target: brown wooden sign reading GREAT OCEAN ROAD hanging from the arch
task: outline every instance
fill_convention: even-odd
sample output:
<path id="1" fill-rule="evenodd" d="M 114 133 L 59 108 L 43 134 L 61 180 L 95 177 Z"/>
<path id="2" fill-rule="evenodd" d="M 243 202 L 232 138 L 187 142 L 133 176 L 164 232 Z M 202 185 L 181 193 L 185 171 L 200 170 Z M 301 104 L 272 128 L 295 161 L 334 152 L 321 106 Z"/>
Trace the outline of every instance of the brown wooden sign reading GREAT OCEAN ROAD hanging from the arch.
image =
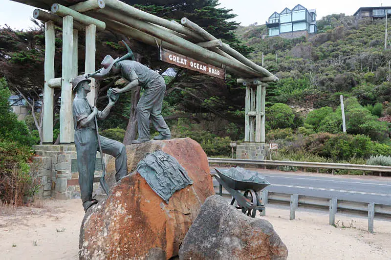
<path id="1" fill-rule="evenodd" d="M 182 68 L 198 71 L 199 73 L 225 80 L 225 70 L 164 48 L 160 50 L 160 59 Z"/>

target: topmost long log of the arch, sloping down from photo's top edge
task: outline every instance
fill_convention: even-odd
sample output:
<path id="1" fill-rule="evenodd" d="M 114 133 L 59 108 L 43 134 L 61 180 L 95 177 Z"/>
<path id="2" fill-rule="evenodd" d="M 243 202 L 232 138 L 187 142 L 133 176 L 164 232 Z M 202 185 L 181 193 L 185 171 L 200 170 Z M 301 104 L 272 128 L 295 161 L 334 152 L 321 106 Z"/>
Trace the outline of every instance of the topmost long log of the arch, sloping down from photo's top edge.
<path id="1" fill-rule="evenodd" d="M 134 8 L 133 6 L 130 6 L 129 4 L 126 4 L 124 2 L 121 2 L 119 0 L 105 0 L 106 6 L 110 7 L 112 9 L 115 9 L 117 12 L 122 12 L 127 14 L 128 16 L 131 16 L 138 20 L 148 21 L 153 24 L 161 25 L 163 27 L 166 27 L 170 30 L 176 31 L 178 33 L 187 35 L 191 37 L 192 39 L 198 40 L 198 41 L 204 41 L 202 37 L 197 35 L 192 30 L 178 24 L 171 22 L 169 20 L 154 16 L 152 14 L 149 14 L 147 12 L 141 11 L 137 8 Z"/>

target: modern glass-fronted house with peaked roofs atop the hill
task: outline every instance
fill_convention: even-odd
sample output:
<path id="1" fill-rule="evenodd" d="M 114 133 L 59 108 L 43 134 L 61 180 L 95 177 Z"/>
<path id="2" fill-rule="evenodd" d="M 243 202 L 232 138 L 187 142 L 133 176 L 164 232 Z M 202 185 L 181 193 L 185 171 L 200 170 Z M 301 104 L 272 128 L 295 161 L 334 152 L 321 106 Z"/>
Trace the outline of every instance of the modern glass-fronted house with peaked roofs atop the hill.
<path id="1" fill-rule="evenodd" d="M 281 13 L 274 12 L 266 21 L 269 37 L 306 38 L 316 34 L 316 10 L 306 9 L 298 4 L 292 10 L 285 8 Z"/>

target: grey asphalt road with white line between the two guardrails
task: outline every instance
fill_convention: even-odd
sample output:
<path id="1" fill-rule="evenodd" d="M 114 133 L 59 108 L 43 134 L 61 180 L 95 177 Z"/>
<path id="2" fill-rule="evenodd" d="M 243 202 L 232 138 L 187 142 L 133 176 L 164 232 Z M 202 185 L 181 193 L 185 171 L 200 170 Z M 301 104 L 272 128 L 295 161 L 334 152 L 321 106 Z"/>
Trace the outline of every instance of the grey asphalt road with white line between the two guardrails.
<path id="1" fill-rule="evenodd" d="M 211 168 L 211 172 L 215 170 Z M 337 175 L 325 177 L 304 172 L 287 174 L 263 169 L 258 169 L 258 172 L 271 183 L 265 188 L 270 192 L 391 205 L 391 178 L 387 177 L 369 180 L 373 178 L 347 178 Z"/>

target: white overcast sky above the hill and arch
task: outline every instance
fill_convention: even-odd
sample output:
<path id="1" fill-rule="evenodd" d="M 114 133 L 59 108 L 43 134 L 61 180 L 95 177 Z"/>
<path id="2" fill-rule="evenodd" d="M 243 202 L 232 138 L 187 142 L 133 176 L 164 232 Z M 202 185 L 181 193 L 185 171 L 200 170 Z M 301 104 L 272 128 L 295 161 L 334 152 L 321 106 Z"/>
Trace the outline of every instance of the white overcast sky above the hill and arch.
<path id="1" fill-rule="evenodd" d="M 391 0 L 219 0 L 220 7 L 233 9 L 238 17 L 235 19 L 241 25 L 258 22 L 264 24 L 265 20 L 274 12 L 281 12 L 285 7 L 292 9 L 300 3 L 307 9 L 316 9 L 317 20 L 330 14 L 345 13 L 353 15 L 359 7 L 365 6 L 391 6 Z M 11 0 L 0 0 L 0 26 L 5 23 L 14 29 L 28 29 L 35 27 L 30 21 L 35 7 L 24 5 Z"/>

